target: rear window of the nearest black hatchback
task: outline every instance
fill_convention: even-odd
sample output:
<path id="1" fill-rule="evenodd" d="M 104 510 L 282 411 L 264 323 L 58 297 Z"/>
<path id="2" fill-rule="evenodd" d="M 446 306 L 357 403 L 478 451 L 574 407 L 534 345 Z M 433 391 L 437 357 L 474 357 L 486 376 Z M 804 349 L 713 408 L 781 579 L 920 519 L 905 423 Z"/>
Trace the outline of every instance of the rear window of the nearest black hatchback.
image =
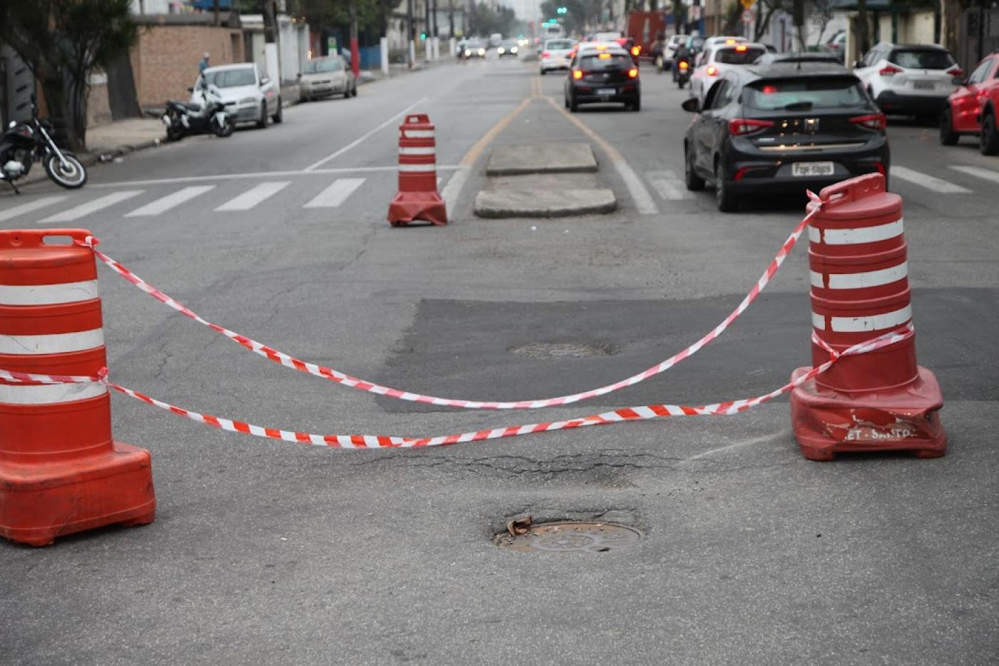
<path id="1" fill-rule="evenodd" d="M 754 109 L 808 111 L 861 106 L 864 96 L 855 78 L 768 79 L 755 81 L 742 92 L 742 103 Z"/>

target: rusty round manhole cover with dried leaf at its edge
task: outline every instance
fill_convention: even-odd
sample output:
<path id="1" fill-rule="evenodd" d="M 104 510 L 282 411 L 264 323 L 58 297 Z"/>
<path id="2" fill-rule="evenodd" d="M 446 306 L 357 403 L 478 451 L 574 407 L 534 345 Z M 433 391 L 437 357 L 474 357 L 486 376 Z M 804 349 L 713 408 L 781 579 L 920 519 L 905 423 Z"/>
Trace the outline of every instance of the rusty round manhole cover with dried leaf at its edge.
<path id="1" fill-rule="evenodd" d="M 531 525 L 524 534 L 503 532 L 496 544 L 520 553 L 605 553 L 638 542 L 641 532 L 613 523 L 541 523 Z"/>

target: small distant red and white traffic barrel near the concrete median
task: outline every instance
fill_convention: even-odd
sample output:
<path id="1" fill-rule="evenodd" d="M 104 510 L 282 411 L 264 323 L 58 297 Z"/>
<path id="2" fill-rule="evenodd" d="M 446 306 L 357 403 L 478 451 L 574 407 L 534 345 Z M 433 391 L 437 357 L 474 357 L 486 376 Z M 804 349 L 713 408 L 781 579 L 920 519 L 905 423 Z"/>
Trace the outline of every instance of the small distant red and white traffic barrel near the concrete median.
<path id="1" fill-rule="evenodd" d="M 392 226 L 414 220 L 448 224 L 444 199 L 437 189 L 434 125 L 425 113 L 406 116 L 399 128 L 399 194 L 389 205 Z"/>

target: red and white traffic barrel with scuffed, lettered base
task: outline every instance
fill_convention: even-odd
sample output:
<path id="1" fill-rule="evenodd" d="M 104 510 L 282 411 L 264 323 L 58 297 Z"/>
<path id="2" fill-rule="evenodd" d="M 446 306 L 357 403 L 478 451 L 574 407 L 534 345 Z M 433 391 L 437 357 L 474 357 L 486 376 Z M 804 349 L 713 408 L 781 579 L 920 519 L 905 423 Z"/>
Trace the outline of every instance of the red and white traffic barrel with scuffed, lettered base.
<path id="1" fill-rule="evenodd" d="M 822 190 L 811 218 L 812 363 L 911 325 L 902 198 L 869 174 Z M 814 206 L 815 204 L 811 204 Z M 807 372 L 798 368 L 792 380 Z M 791 393 L 791 421 L 811 460 L 837 453 L 911 451 L 942 456 L 947 436 L 938 410 L 943 395 L 933 373 L 916 363 L 915 338 L 878 351 L 843 356 Z"/>

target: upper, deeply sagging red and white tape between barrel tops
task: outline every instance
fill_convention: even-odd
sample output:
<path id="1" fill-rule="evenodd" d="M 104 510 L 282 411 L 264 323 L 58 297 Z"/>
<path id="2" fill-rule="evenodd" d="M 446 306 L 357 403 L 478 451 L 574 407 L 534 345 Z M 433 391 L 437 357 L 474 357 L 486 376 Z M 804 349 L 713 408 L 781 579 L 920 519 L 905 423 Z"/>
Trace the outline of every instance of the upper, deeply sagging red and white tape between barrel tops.
<path id="1" fill-rule="evenodd" d="M 638 382 L 642 382 L 649 377 L 654 377 L 655 375 L 665 372 L 669 368 L 673 367 L 680 361 L 689 358 L 695 354 L 702 347 L 707 345 L 709 342 L 721 335 L 725 329 L 727 329 L 732 322 L 734 322 L 739 315 L 745 312 L 746 308 L 756 300 L 756 297 L 763 291 L 767 283 L 776 275 L 777 270 L 780 265 L 784 263 L 784 259 L 790 253 L 794 244 L 797 242 L 798 238 L 801 236 L 801 232 L 804 231 L 805 227 L 808 225 L 808 220 L 811 219 L 812 215 L 818 212 L 821 200 L 812 192 L 808 192 L 808 196 L 813 202 L 818 205 L 812 207 L 812 210 L 805 216 L 803 220 L 794 228 L 791 235 L 787 237 L 784 244 L 780 247 L 777 255 L 770 261 L 770 264 L 766 267 L 766 270 L 746 294 L 742 302 L 736 306 L 732 312 L 725 317 L 724 320 L 712 330 L 708 331 L 702 338 L 694 342 L 692 345 L 686 349 L 680 351 L 673 356 L 670 356 L 666 360 L 653 365 L 643 372 L 639 372 L 636 375 L 632 375 L 627 379 L 622 379 L 613 384 L 608 384 L 606 386 L 601 386 L 600 388 L 592 389 L 589 391 L 583 391 L 581 393 L 574 393 L 572 395 L 563 395 L 557 398 L 541 398 L 537 400 L 520 400 L 516 402 L 485 402 L 478 400 L 462 400 L 458 398 L 441 398 L 432 395 L 423 395 L 420 393 L 413 393 L 410 391 L 402 391 L 400 389 L 395 389 L 389 386 L 383 386 L 381 384 L 376 384 L 375 382 L 365 381 L 363 379 L 358 379 L 357 377 L 352 377 L 346 373 L 340 372 L 339 370 L 334 370 L 333 368 L 328 368 L 316 363 L 308 363 L 302 361 L 290 354 L 286 354 L 282 351 L 269 347 L 262 342 L 258 342 L 252 338 L 248 338 L 245 335 L 240 335 L 235 331 L 231 331 L 228 328 L 219 326 L 218 324 L 213 324 L 212 322 L 202 318 L 200 315 L 190 310 L 188 307 L 184 306 L 177 300 L 166 295 L 156 287 L 152 286 L 138 275 L 132 271 L 125 268 L 123 265 L 107 256 L 100 250 L 96 248 L 96 245 L 100 242 L 98 239 L 88 236 L 84 241 L 77 241 L 78 244 L 84 245 L 91 248 L 94 251 L 94 255 L 100 259 L 104 264 L 110 267 L 113 271 L 121 275 L 123 278 L 134 284 L 136 287 L 146 292 L 156 300 L 168 305 L 174 310 L 180 312 L 181 314 L 190 317 L 200 324 L 204 324 L 213 331 L 225 335 L 230 340 L 239 343 L 241 346 L 249 349 L 250 351 L 263 356 L 275 363 L 280 363 L 289 368 L 299 370 L 300 372 L 306 372 L 311 375 L 316 375 L 317 377 L 323 377 L 331 381 L 344 384 L 345 386 L 350 386 L 352 388 L 360 389 L 362 391 L 368 391 L 369 393 L 376 393 L 379 395 L 387 395 L 391 398 L 398 398 L 399 400 L 409 400 L 412 402 L 424 402 L 432 405 L 440 405 L 446 407 L 463 407 L 465 409 L 538 409 L 540 407 L 554 407 L 558 405 L 567 405 L 573 402 L 579 402 L 582 400 L 588 400 L 590 398 L 595 398 L 596 396 L 606 395 L 607 393 L 612 393 L 619 389 L 625 388 L 627 386 L 633 386 Z"/>

